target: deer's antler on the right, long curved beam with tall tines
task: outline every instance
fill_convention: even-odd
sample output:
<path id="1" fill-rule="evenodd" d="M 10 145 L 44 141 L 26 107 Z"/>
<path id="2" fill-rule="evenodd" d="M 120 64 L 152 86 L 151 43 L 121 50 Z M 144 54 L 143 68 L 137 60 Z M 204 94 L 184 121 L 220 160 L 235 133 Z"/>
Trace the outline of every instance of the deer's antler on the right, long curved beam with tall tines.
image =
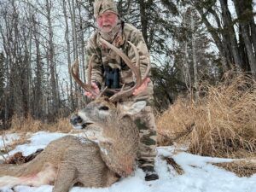
<path id="1" fill-rule="evenodd" d="M 135 74 L 136 76 L 136 84 L 131 87 L 131 89 L 129 90 L 120 90 L 119 92 L 115 93 L 113 96 L 111 96 L 109 98 L 109 100 L 111 102 L 116 102 L 118 101 L 121 97 L 128 97 L 128 96 L 131 96 L 133 91 L 139 87 L 141 84 L 144 83 L 144 81 L 147 79 L 148 77 L 148 73 L 150 71 L 150 62 L 148 61 L 148 67 L 147 67 L 147 70 L 146 72 L 144 73 L 144 76 L 143 76 L 143 79 L 141 77 L 141 73 L 140 73 L 140 58 L 139 58 L 139 54 L 138 54 L 138 51 L 137 51 L 137 47 L 132 44 L 130 41 L 128 41 L 128 44 L 131 45 L 132 49 L 134 50 L 134 53 L 135 53 L 135 56 L 136 56 L 136 59 L 137 59 L 137 63 L 136 65 L 134 66 L 133 63 L 131 62 L 131 60 L 128 58 L 127 55 L 125 55 L 120 49 L 116 48 L 115 46 L 113 46 L 113 44 L 109 44 L 108 41 L 104 40 L 103 38 L 100 38 L 100 42 L 102 44 L 106 44 L 108 46 L 109 49 L 112 49 L 117 55 L 119 55 L 126 63 L 126 65 L 128 67 L 131 68 L 131 71 Z"/>

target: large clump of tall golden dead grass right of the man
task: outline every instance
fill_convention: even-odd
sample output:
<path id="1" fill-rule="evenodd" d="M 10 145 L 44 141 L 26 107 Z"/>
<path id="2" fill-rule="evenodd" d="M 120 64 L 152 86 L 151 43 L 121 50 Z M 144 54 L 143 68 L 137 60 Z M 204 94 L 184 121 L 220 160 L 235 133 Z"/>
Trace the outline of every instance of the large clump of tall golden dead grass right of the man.
<path id="1" fill-rule="evenodd" d="M 193 154 L 244 157 L 256 154 L 256 89 L 246 75 L 206 85 L 198 102 L 179 98 L 157 119 L 159 143 L 188 143 Z"/>

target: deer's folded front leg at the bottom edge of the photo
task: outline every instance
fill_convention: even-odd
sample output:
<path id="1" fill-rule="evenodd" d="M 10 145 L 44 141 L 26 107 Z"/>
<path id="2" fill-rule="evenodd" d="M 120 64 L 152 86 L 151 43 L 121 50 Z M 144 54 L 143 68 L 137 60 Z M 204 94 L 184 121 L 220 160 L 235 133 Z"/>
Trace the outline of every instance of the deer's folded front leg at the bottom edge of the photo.
<path id="1" fill-rule="evenodd" d="M 53 192 L 68 192 L 75 183 L 76 168 L 67 162 L 61 163 L 55 179 Z"/>

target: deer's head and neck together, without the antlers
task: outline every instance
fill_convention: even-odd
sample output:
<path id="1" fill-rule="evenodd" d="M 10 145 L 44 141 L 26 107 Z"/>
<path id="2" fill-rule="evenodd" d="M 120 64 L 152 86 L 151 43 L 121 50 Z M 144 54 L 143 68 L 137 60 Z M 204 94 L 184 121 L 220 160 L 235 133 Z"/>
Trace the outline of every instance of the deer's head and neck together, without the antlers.
<path id="1" fill-rule="evenodd" d="M 76 129 L 89 134 L 89 140 L 100 148 L 102 160 L 119 176 L 127 177 L 134 171 L 139 133 L 132 116 L 139 113 L 146 102 L 125 102 L 115 105 L 100 97 L 90 102 L 71 117 Z"/>

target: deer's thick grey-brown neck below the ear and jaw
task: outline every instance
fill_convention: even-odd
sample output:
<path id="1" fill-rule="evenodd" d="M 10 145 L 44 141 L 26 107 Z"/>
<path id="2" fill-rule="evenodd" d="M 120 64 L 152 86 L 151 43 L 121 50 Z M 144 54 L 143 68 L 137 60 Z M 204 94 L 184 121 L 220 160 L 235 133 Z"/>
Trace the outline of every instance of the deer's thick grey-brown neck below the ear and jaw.
<path id="1" fill-rule="evenodd" d="M 107 166 L 120 176 L 131 175 L 135 168 L 139 135 L 131 118 L 117 119 L 118 125 L 110 125 L 103 132 L 103 140 L 98 145 L 102 159 Z"/>

